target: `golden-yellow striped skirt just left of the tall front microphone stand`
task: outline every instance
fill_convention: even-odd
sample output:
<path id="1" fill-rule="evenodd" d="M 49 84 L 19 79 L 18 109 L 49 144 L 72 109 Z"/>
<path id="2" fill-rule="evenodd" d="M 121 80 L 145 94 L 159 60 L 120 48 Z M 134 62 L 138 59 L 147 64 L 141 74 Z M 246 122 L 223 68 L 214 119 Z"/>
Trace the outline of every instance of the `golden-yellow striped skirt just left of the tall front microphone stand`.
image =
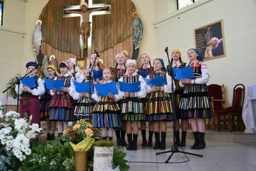
<path id="1" fill-rule="evenodd" d="M 164 91 L 147 94 L 145 101 L 146 121 L 172 121 L 172 102 Z"/>

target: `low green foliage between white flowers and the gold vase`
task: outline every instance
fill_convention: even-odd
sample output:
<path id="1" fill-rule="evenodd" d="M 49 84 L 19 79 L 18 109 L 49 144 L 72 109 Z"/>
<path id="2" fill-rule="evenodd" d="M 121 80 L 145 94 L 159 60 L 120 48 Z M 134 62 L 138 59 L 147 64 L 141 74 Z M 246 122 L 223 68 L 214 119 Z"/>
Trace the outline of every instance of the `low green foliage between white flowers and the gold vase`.
<path id="1" fill-rule="evenodd" d="M 32 147 L 32 153 L 23 161 L 21 170 L 69 171 L 74 168 L 74 154 L 70 145 L 64 146 L 58 141 L 45 141 Z"/>

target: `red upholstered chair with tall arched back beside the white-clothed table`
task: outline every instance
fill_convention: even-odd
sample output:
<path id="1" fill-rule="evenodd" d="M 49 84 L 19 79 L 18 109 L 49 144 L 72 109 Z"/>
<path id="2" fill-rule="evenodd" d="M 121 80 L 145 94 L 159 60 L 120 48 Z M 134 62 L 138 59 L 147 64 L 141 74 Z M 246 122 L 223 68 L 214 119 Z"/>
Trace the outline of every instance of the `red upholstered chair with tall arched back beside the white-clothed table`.
<path id="1" fill-rule="evenodd" d="M 237 84 L 235 85 L 233 89 L 233 100 L 232 100 L 232 106 L 227 107 L 224 110 L 217 110 L 215 111 L 218 115 L 218 131 L 220 131 L 220 122 L 229 122 L 229 131 L 232 132 L 232 123 L 238 122 L 238 125 L 240 126 L 240 122 L 243 124 L 242 120 L 242 109 L 244 104 L 244 95 L 245 95 L 245 87 L 243 84 Z M 223 118 L 220 118 L 220 116 L 223 115 Z M 234 119 L 234 116 L 236 116 L 236 119 Z M 235 125 L 233 125 L 233 129 Z"/>

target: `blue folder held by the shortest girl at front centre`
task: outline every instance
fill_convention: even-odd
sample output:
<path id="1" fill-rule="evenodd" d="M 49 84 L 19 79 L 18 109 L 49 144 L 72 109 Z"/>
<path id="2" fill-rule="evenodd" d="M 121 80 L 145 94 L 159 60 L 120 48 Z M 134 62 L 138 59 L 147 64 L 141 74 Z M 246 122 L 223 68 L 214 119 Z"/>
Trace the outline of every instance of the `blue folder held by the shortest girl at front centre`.
<path id="1" fill-rule="evenodd" d="M 94 84 L 96 91 L 99 92 L 99 96 L 108 96 L 108 93 L 113 95 L 118 94 L 116 82 L 110 82 L 107 84 Z"/>

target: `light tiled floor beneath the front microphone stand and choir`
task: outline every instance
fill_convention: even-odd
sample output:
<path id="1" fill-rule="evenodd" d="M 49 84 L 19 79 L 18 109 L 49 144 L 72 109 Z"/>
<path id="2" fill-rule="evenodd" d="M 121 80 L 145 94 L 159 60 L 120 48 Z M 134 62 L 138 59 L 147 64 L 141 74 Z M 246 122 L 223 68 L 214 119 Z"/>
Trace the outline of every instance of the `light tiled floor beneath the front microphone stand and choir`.
<path id="1" fill-rule="evenodd" d="M 245 139 L 240 139 L 239 135 L 243 135 L 241 131 L 229 133 L 228 131 L 207 130 L 206 132 L 206 137 L 210 139 L 210 137 L 215 136 L 215 138 L 213 139 L 214 141 L 206 141 L 205 149 L 190 149 L 194 143 L 193 139 L 186 140 L 186 147 L 182 149 L 178 147 L 180 151 L 184 150 L 189 153 L 203 155 L 203 157 L 174 153 L 168 164 L 165 161 L 171 153 L 159 155 L 156 155 L 156 153 L 171 150 L 173 141 L 171 129 L 168 129 L 167 133 L 166 150 L 153 150 L 152 147 L 142 147 L 140 145 L 142 143 L 140 134 L 138 137 L 138 150 L 126 151 L 128 154 L 125 159 L 128 161 L 130 171 L 256 171 L 256 143 L 255 140 L 249 142 L 246 140 L 254 139 L 256 135 L 241 137 Z M 190 138 L 190 136 L 190 133 L 188 133 L 187 137 Z M 232 138 L 226 137 L 233 137 L 236 143 L 232 141 Z M 220 141 L 216 141 L 217 139 Z M 232 142 L 230 142 L 230 139 Z M 116 139 L 113 141 L 116 143 Z M 240 143 L 237 143 L 238 141 Z"/>

